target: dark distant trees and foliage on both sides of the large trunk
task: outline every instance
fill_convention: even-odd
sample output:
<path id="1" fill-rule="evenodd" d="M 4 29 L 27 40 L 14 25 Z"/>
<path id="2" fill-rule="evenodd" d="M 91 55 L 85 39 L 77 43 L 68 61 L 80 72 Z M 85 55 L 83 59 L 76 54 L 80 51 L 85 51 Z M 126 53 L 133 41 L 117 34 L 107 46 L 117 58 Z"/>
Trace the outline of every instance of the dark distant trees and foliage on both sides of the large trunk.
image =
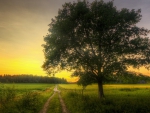
<path id="1" fill-rule="evenodd" d="M 77 81 L 78 85 L 83 86 L 83 90 L 87 85 L 97 83 L 97 81 L 88 75 L 82 75 Z M 117 74 L 115 76 L 107 76 L 105 78 L 105 84 L 146 84 L 150 83 L 150 76 L 143 75 L 135 72 L 124 72 L 123 74 Z"/>

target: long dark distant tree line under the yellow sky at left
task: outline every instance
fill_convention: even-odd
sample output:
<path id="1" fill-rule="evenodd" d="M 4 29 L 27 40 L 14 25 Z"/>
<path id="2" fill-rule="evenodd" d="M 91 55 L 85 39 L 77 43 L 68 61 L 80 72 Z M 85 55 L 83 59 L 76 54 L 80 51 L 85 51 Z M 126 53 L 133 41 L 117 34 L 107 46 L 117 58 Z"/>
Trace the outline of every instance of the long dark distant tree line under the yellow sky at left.
<path id="1" fill-rule="evenodd" d="M 64 78 L 36 75 L 0 75 L 1 83 L 67 83 Z"/>

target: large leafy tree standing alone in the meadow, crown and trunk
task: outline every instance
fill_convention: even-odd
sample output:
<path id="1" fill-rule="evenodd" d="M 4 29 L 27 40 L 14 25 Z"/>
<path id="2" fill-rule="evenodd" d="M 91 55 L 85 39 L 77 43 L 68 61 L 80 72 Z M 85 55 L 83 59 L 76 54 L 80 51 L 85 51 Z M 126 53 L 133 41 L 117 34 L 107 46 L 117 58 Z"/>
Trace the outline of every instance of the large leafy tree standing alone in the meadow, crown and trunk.
<path id="1" fill-rule="evenodd" d="M 149 30 L 136 26 L 140 13 L 117 10 L 113 1 L 65 3 L 44 37 L 43 68 L 50 73 L 67 69 L 79 77 L 90 75 L 98 83 L 99 97 L 104 97 L 107 77 L 125 72 L 129 66 L 149 67 Z"/>

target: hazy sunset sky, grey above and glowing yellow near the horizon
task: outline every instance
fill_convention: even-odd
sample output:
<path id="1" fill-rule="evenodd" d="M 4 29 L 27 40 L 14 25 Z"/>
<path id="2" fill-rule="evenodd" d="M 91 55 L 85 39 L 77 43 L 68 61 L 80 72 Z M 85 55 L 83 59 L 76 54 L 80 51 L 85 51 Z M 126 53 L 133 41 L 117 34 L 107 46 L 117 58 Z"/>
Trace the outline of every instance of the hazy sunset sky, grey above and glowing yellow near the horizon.
<path id="1" fill-rule="evenodd" d="M 0 75 L 47 75 L 41 68 L 43 36 L 62 4 L 73 1 L 76 0 L 0 0 Z M 114 5 L 117 9 L 141 9 L 142 20 L 137 26 L 150 29 L 150 0 L 114 0 Z M 150 75 L 145 69 L 136 71 Z M 72 79 L 70 72 L 56 76 Z"/>

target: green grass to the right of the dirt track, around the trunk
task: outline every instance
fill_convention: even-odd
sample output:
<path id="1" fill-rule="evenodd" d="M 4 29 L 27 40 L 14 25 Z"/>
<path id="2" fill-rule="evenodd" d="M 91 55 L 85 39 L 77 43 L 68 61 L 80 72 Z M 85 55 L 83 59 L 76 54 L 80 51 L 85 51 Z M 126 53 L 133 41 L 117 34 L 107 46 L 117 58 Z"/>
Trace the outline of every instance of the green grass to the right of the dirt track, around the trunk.
<path id="1" fill-rule="evenodd" d="M 104 85 L 105 99 L 98 98 L 97 85 L 81 95 L 76 84 L 59 85 L 71 113 L 150 113 L 150 85 Z"/>

